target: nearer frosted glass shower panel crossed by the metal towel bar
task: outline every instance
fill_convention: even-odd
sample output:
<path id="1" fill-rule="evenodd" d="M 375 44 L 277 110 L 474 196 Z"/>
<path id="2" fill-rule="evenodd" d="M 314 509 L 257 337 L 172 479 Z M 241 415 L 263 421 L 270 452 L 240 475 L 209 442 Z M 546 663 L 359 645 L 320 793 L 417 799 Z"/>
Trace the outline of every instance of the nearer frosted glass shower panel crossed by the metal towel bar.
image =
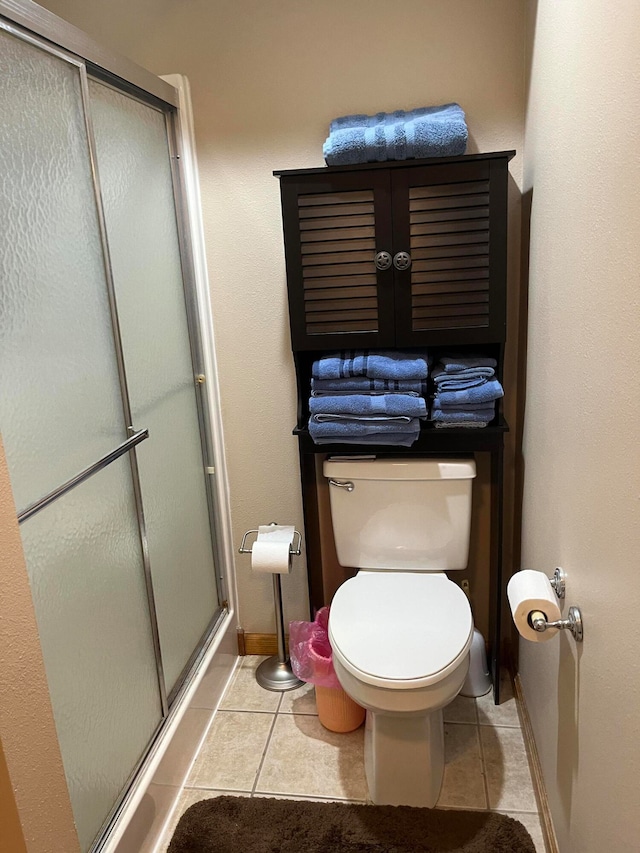
<path id="1" fill-rule="evenodd" d="M 129 437 L 83 75 L 0 27 L 0 430 L 19 511 Z M 161 720 L 128 455 L 21 533 L 87 850 Z"/>

